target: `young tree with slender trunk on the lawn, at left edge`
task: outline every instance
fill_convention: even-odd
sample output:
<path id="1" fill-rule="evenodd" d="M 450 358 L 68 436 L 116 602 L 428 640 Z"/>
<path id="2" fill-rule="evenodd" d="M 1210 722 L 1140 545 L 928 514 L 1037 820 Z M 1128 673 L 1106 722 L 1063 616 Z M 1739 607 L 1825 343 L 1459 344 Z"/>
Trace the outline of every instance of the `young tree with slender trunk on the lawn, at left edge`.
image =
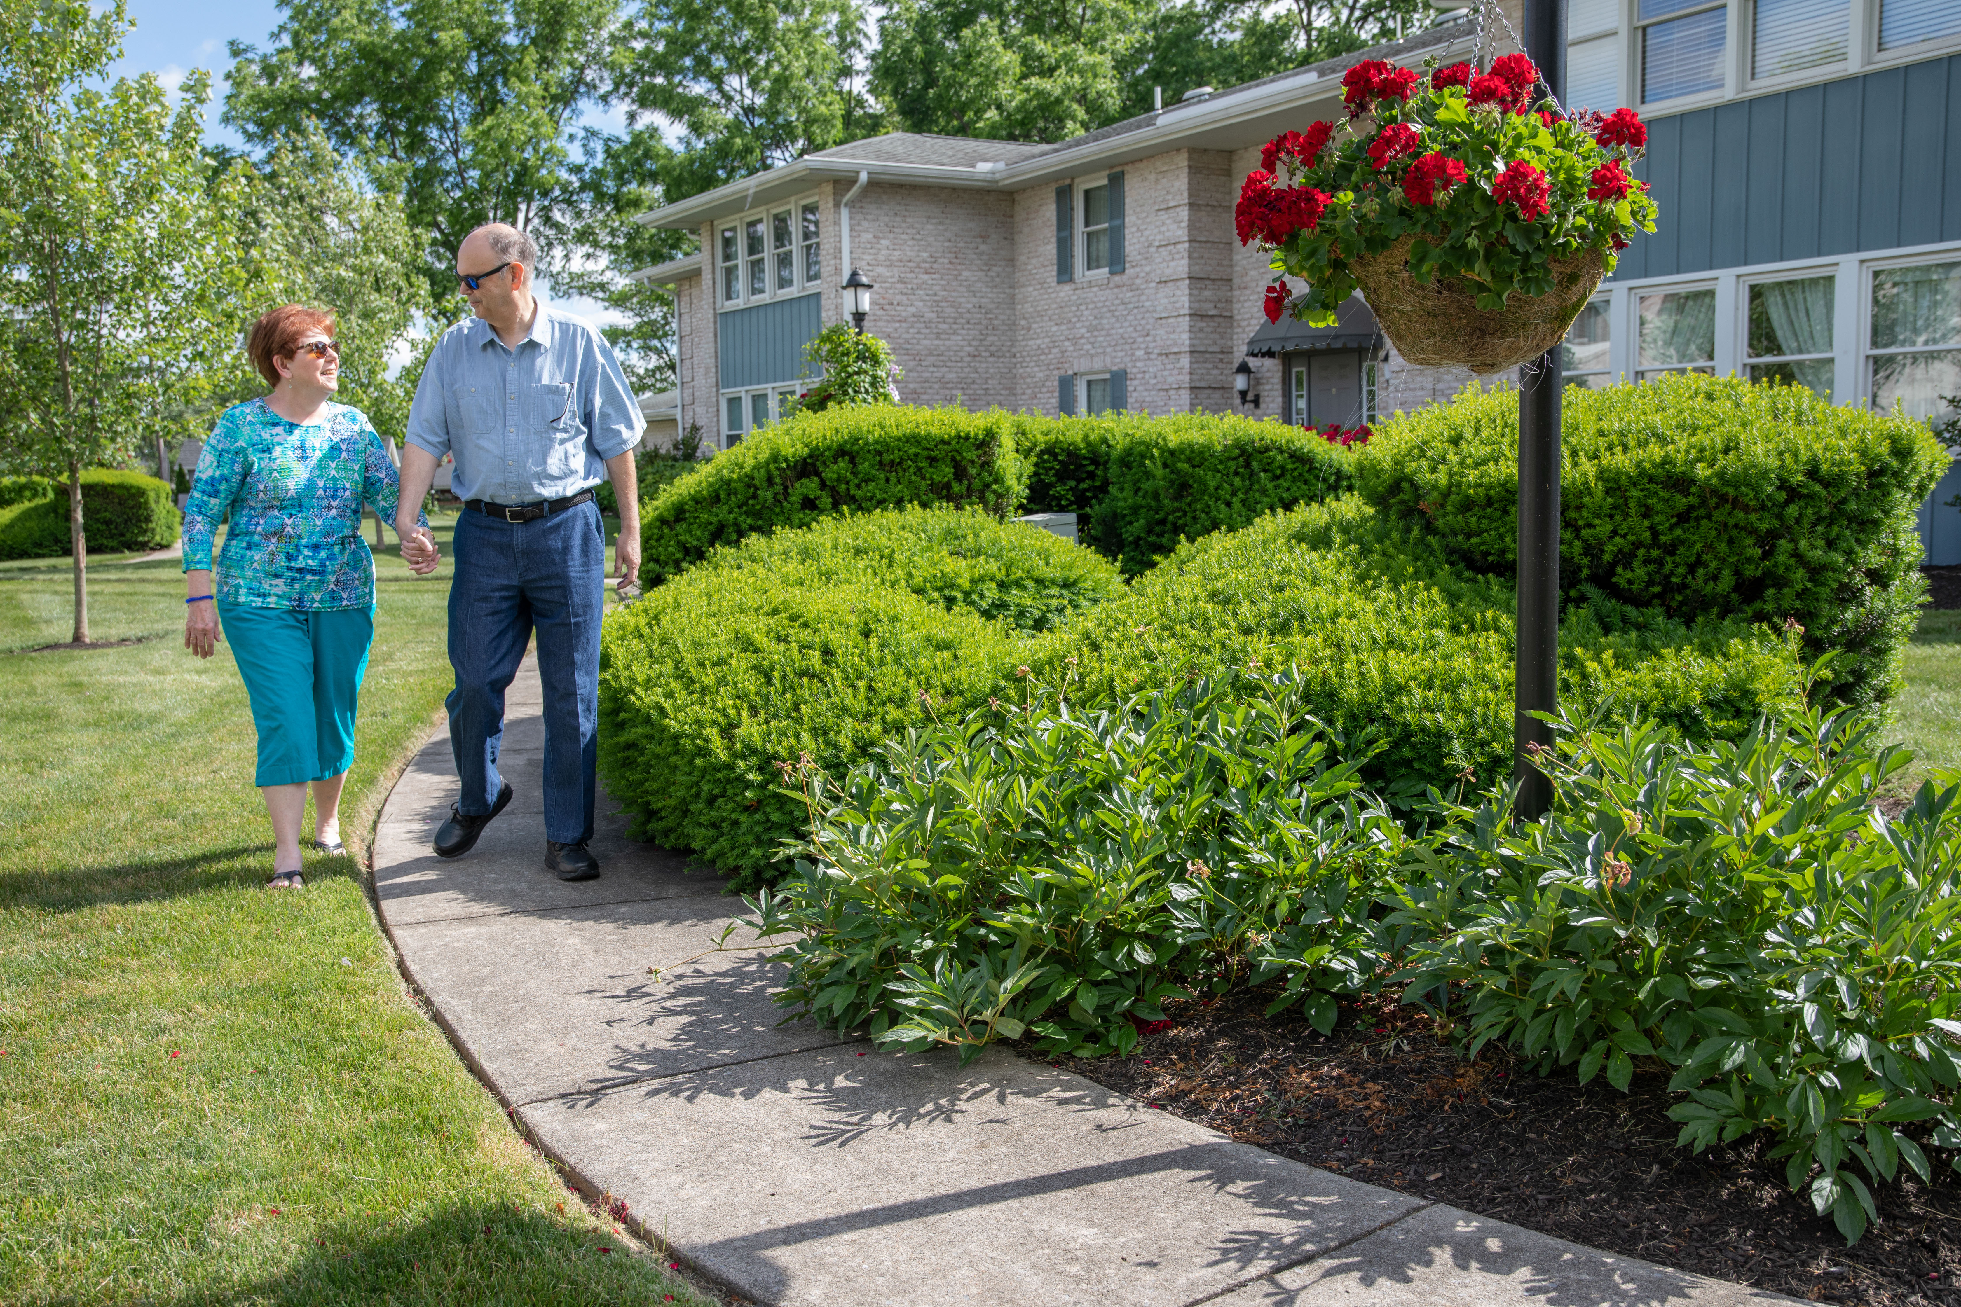
<path id="1" fill-rule="evenodd" d="M 0 0 L 0 459 L 69 486 L 75 641 L 88 641 L 82 468 L 122 462 L 237 339 L 241 180 L 202 147 L 210 82 L 173 114 L 155 76 L 90 86 L 122 0 Z"/>

